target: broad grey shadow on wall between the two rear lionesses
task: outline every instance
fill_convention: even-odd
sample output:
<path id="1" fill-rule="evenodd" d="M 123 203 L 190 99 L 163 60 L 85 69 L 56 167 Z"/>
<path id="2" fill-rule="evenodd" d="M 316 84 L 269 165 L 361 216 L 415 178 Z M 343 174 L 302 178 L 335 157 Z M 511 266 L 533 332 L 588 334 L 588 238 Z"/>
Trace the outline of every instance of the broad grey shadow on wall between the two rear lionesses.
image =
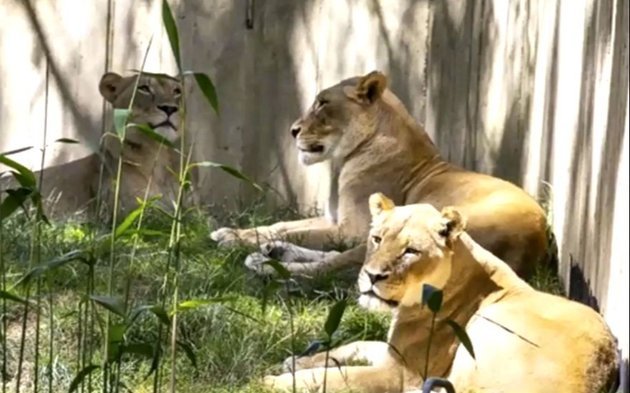
<path id="1" fill-rule="evenodd" d="M 212 3 L 212 4 L 210 4 Z M 296 200 L 289 126 L 300 114 L 300 94 L 291 32 L 308 7 L 301 2 L 187 1 L 176 10 L 185 67 L 207 72 L 214 81 L 220 116 L 191 87 L 188 128 L 196 160 L 241 168 L 259 182 Z M 246 19 L 251 15 L 253 25 Z M 303 48 L 314 50 L 313 48 Z M 255 191 L 224 173 L 197 174 L 202 195 L 218 202 L 251 200 Z M 273 181 L 273 179 L 278 179 Z"/>

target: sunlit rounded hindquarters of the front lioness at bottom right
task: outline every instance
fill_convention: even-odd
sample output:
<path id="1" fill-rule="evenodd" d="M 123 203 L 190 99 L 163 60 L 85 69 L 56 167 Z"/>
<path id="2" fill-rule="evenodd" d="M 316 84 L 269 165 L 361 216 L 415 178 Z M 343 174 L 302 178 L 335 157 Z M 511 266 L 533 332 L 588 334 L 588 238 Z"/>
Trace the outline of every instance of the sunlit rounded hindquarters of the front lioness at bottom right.
<path id="1" fill-rule="evenodd" d="M 458 390 L 590 392 L 593 354 L 609 336 L 593 310 L 572 303 L 532 290 L 480 309 L 466 329 L 476 359 L 460 345 L 449 379 Z"/>

